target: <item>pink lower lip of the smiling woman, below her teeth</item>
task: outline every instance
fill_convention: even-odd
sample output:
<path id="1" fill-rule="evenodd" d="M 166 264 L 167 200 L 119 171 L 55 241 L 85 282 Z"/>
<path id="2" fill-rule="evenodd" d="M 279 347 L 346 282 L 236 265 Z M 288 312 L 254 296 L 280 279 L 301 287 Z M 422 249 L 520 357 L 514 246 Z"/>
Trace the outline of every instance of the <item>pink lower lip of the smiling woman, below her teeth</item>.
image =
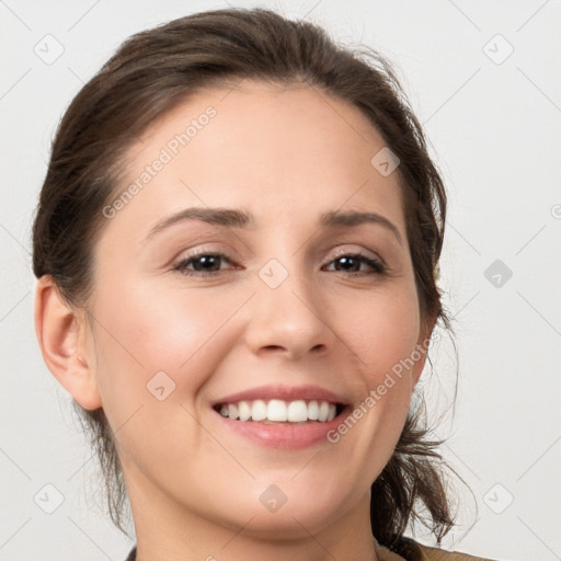
<path id="1" fill-rule="evenodd" d="M 265 424 L 256 421 L 233 421 L 217 411 L 215 413 L 228 428 L 248 440 L 282 449 L 299 449 L 318 443 L 329 443 L 327 434 L 335 430 L 348 414 L 345 408 L 335 419 L 323 423 L 308 421 L 301 424 Z"/>

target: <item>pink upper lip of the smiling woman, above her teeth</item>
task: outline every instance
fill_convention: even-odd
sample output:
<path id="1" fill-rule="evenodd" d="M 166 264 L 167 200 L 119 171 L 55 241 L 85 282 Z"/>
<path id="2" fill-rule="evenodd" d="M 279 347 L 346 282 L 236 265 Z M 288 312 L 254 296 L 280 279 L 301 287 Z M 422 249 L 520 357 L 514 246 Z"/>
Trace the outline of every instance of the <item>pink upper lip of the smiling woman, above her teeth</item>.
<path id="1" fill-rule="evenodd" d="M 213 407 L 224 403 L 237 403 L 239 401 L 253 401 L 255 399 L 270 400 L 280 399 L 284 401 L 297 400 L 318 400 L 329 401 L 335 404 L 346 405 L 347 401 L 343 396 L 340 396 L 331 390 L 321 388 L 320 386 L 304 385 L 304 386 L 282 386 L 268 385 L 259 386 L 236 393 L 230 393 L 213 402 Z"/>

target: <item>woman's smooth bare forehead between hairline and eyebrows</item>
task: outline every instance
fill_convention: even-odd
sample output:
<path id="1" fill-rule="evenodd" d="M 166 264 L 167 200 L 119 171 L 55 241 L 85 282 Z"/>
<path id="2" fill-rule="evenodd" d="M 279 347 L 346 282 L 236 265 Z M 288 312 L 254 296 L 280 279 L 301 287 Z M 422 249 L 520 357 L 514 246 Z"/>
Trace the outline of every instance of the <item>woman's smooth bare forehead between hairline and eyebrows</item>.
<path id="1" fill-rule="evenodd" d="M 400 224 L 398 173 L 383 176 L 371 163 L 383 147 L 356 106 L 318 88 L 251 80 L 208 88 L 130 147 L 116 195 L 131 184 L 138 194 L 118 220 L 148 225 L 186 206 L 243 206 L 271 220 L 289 205 L 283 216 L 293 221 L 367 206 Z"/>

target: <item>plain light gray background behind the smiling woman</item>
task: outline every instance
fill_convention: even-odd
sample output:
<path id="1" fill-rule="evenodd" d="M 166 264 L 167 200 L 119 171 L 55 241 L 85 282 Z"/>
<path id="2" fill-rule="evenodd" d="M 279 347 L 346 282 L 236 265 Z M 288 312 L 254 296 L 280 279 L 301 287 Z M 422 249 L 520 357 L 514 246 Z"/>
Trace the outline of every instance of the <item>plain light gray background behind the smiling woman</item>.
<path id="1" fill-rule="evenodd" d="M 60 116 L 119 43 L 157 23 L 227 5 L 0 0 L 2 560 L 119 561 L 130 548 L 87 500 L 95 462 L 88 461 L 70 398 L 36 343 L 32 213 Z M 445 545 L 501 560 L 561 559 L 561 2 L 266 5 L 390 57 L 448 185 L 442 268 L 460 381 L 456 414 L 437 434 L 451 435 L 444 455 L 471 486 L 478 510 L 462 492 L 467 522 Z M 53 64 L 34 51 L 56 53 L 47 34 L 64 47 Z M 504 59 L 508 45 L 514 51 Z M 512 278 L 501 272 L 492 278 L 491 270 L 488 280 L 495 260 Z M 455 377 L 449 354 L 444 342 L 433 355 L 435 374 L 422 378 L 440 413 Z M 57 492 L 47 484 L 64 496 L 53 514 L 44 508 L 56 504 Z"/>

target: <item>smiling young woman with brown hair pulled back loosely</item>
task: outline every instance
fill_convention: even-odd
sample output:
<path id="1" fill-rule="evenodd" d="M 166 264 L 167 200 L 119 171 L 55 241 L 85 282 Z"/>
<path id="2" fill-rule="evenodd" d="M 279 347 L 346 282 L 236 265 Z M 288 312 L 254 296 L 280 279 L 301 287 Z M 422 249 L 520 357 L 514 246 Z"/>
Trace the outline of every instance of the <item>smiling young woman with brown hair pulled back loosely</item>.
<path id="1" fill-rule="evenodd" d="M 35 322 L 128 559 L 477 559 L 412 403 L 446 194 L 388 62 L 267 10 L 130 37 L 34 224 Z M 425 516 L 417 514 L 419 505 Z"/>

